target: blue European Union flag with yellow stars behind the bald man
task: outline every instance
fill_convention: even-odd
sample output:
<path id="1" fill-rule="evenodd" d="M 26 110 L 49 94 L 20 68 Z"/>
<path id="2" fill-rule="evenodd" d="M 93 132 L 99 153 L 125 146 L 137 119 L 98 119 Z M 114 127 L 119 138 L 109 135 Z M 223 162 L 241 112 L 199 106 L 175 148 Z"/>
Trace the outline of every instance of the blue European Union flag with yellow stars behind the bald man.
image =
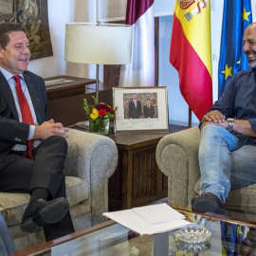
<path id="1" fill-rule="evenodd" d="M 244 32 L 251 22 L 250 0 L 225 0 L 218 72 L 219 98 L 231 76 L 249 67 L 243 51 L 243 40 Z"/>

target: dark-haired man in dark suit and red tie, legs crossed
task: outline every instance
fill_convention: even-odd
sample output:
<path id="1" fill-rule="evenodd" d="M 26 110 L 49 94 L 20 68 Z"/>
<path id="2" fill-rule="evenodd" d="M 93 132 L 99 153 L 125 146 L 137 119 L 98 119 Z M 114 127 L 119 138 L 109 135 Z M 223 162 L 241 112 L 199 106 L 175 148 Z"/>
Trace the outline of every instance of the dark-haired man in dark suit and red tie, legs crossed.
<path id="1" fill-rule="evenodd" d="M 47 118 L 44 80 L 27 71 L 26 30 L 0 24 L 0 191 L 29 192 L 21 229 L 46 241 L 74 231 L 65 199 L 67 129 Z"/>

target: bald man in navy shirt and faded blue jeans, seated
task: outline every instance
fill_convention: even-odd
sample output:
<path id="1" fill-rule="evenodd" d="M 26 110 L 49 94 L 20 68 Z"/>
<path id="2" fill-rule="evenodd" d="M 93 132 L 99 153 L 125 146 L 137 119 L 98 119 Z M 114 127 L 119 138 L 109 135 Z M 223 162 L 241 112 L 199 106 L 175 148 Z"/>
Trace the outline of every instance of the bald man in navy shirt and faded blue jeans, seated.
<path id="1" fill-rule="evenodd" d="M 230 190 L 256 183 L 256 23 L 247 27 L 244 51 L 251 69 L 233 75 L 200 123 L 200 195 L 193 210 L 229 214 Z"/>

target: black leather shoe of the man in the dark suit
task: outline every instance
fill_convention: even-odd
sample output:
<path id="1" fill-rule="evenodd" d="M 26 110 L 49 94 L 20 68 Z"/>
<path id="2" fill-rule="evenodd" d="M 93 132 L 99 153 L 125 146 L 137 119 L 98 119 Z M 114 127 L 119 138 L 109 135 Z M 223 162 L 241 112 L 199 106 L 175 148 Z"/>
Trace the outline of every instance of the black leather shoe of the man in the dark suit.
<path id="1" fill-rule="evenodd" d="M 63 219 L 68 209 L 68 201 L 64 197 L 51 201 L 37 199 L 36 203 L 25 210 L 21 229 L 31 233 L 41 229 L 42 225 L 57 223 Z"/>

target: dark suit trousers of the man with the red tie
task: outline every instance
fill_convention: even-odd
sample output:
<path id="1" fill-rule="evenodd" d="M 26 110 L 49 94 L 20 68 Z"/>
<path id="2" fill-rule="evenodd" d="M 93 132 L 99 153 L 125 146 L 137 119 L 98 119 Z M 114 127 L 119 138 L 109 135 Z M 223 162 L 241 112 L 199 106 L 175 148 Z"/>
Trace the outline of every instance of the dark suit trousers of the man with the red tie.
<path id="1" fill-rule="evenodd" d="M 0 192 L 31 192 L 45 188 L 48 200 L 66 197 L 64 160 L 67 143 L 64 137 L 47 137 L 33 149 L 34 160 L 23 157 L 24 152 L 10 151 L 0 169 Z M 70 212 L 56 224 L 43 226 L 46 241 L 74 232 Z"/>

